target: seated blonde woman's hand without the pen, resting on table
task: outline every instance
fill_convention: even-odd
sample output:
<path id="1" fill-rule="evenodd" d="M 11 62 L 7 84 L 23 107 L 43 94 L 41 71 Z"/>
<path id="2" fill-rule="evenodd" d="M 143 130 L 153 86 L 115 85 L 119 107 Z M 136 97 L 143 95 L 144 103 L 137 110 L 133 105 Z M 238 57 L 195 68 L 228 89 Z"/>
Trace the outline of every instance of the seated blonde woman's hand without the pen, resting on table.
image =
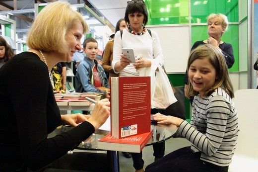
<path id="1" fill-rule="evenodd" d="M 65 124 L 71 125 L 73 127 L 76 127 L 78 124 L 87 121 L 89 115 L 83 115 L 81 113 L 74 113 L 71 115 L 61 115 L 61 119 Z"/>

